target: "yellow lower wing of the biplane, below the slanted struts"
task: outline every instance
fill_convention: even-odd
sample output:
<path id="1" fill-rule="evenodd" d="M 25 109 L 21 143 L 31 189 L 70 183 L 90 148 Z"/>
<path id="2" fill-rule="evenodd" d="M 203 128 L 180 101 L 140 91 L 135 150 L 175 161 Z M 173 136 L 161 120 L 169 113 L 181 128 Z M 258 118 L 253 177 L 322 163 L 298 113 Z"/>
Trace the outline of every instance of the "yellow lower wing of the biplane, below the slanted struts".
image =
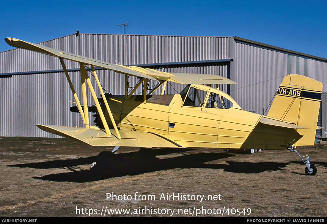
<path id="1" fill-rule="evenodd" d="M 97 127 L 66 127 L 56 125 L 37 125 L 41 130 L 52 134 L 60 135 L 66 138 L 73 138 L 81 142 L 85 142 L 92 146 L 133 146 L 133 147 L 164 147 L 177 148 L 184 147 L 168 138 L 157 134 L 144 131 L 122 131 L 119 130 L 121 139 L 118 140 L 112 135 L 107 135 L 106 132 Z"/>

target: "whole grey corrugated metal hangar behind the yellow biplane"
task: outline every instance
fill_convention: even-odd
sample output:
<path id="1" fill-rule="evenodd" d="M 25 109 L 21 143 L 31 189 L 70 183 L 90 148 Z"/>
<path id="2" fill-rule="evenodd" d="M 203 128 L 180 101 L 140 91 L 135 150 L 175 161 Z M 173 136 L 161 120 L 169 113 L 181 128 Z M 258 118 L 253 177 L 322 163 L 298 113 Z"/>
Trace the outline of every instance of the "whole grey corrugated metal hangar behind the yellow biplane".
<path id="1" fill-rule="evenodd" d="M 325 58 L 240 37 L 72 34 L 40 44 L 113 64 L 220 75 L 238 83 L 219 86 L 222 91 L 243 110 L 264 115 L 285 75 L 308 76 L 323 84 L 318 126 L 327 128 Z M 65 64 L 81 98 L 79 65 Z M 80 115 L 69 111 L 76 104 L 58 58 L 13 49 L 0 52 L 0 65 L 0 136 L 58 137 L 36 124 L 83 127 Z M 124 94 L 124 75 L 103 69 L 97 74 L 109 93 Z M 179 93 L 183 87 L 170 83 L 166 93 Z M 91 99 L 88 96 L 88 105 L 94 104 Z M 317 135 L 326 138 L 326 128 Z"/>

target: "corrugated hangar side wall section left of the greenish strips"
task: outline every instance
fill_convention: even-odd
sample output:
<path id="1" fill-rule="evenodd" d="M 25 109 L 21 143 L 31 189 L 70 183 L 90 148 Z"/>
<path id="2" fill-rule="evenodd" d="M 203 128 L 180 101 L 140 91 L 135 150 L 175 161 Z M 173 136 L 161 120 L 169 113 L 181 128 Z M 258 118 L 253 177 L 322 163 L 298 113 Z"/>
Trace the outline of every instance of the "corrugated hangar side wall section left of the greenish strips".
<path id="1" fill-rule="evenodd" d="M 263 114 L 287 74 L 285 62 L 284 53 L 236 42 L 231 96 L 243 110 Z"/>

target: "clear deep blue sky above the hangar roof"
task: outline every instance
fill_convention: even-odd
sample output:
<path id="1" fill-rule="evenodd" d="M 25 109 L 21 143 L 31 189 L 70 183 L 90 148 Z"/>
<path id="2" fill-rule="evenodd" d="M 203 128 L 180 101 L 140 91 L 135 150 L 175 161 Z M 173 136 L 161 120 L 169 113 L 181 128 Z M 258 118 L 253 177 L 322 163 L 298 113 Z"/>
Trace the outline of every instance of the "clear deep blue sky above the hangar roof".
<path id="1" fill-rule="evenodd" d="M 326 1 L 2 1 L 5 37 L 38 43 L 75 33 L 237 36 L 327 58 Z"/>

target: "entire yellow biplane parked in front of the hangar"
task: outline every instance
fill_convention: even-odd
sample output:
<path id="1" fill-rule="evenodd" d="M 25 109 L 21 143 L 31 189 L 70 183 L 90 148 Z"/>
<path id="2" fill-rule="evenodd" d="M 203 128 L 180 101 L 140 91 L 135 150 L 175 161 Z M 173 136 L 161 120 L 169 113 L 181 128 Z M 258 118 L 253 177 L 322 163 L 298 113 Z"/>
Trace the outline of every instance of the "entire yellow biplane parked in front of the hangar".
<path id="1" fill-rule="evenodd" d="M 76 54 L 5 38 L 13 47 L 58 57 L 75 98 L 76 107 L 85 127 L 37 125 L 40 129 L 85 142 L 92 146 L 144 148 L 230 148 L 291 150 L 306 164 L 305 173 L 315 175 L 317 168 L 309 157 L 301 157 L 296 146 L 313 145 L 318 120 L 322 84 L 305 76 L 290 74 L 284 77 L 267 116 L 243 111 L 216 84 L 236 84 L 217 75 L 167 73 L 154 69 L 114 65 Z M 80 65 L 83 107 L 71 82 L 63 59 Z M 101 97 L 98 99 L 87 70 L 90 66 Z M 95 67 L 125 75 L 125 96 L 105 94 Z M 139 78 L 129 91 L 128 77 Z M 149 80 L 158 82 L 148 90 Z M 187 84 L 180 94 L 164 95 L 167 82 Z M 142 95 L 133 93 L 143 83 Z M 95 107 L 87 106 L 86 84 Z M 160 95 L 152 93 L 162 86 Z M 141 87 L 140 87 L 141 88 Z M 95 112 L 95 123 L 90 126 L 88 111 Z"/>

